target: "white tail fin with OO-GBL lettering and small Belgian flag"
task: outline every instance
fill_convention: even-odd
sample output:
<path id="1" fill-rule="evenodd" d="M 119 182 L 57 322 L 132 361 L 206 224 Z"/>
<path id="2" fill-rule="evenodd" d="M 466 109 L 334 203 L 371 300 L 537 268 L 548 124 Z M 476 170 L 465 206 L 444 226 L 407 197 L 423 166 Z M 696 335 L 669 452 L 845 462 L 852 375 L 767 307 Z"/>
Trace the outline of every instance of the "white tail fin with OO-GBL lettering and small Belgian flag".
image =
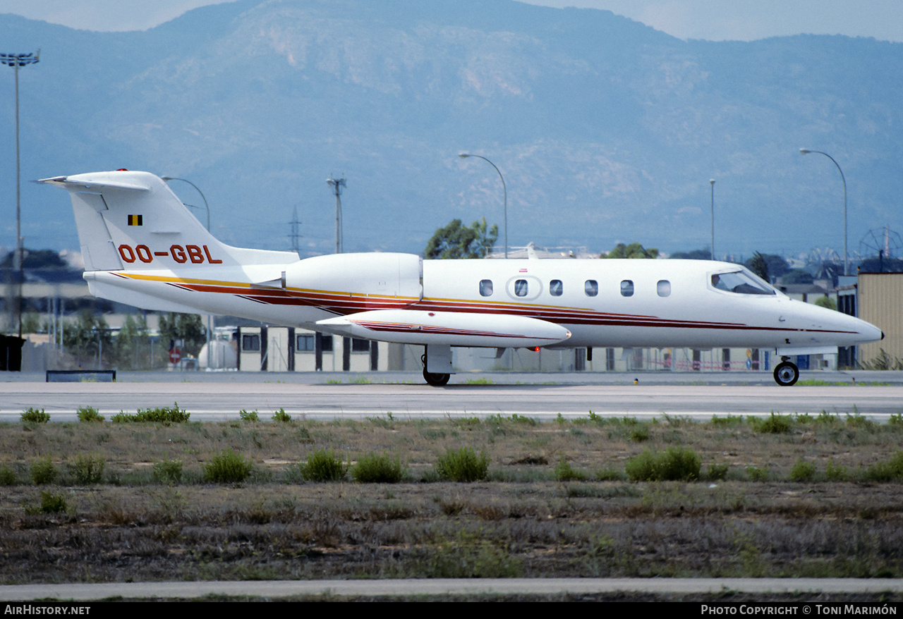
<path id="1" fill-rule="evenodd" d="M 39 182 L 68 189 L 86 271 L 292 263 L 291 252 L 220 243 L 154 174 L 90 172 Z"/>

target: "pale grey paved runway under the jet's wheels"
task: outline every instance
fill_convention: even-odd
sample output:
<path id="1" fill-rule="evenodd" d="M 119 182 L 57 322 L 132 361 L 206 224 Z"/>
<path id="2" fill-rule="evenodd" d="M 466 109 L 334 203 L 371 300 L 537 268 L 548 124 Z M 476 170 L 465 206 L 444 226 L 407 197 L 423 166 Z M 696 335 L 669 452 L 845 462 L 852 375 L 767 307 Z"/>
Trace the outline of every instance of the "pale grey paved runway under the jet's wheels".
<path id="1" fill-rule="evenodd" d="M 278 378 L 284 374 L 168 374 L 163 379 L 155 376 L 159 373 L 145 374 L 150 377 L 142 380 L 143 374 L 126 375 L 116 383 L 43 383 L 37 375 L 33 380 L 23 376 L 17 382 L 0 383 L 0 421 L 17 421 L 30 407 L 51 413 L 51 420 L 65 421 L 77 419 L 79 406 L 93 406 L 109 419 L 119 411 L 172 406 L 173 402 L 191 412 L 192 420 L 238 419 L 238 411 L 243 409 L 256 410 L 262 419 L 268 419 L 280 408 L 295 418 L 316 420 L 388 413 L 399 419 L 493 414 L 549 419 L 559 413 L 585 416 L 589 411 L 638 418 L 667 413 L 707 420 L 712 415 L 828 411 L 858 412 L 886 421 L 890 415 L 903 412 L 903 384 L 897 380 L 890 381 L 893 384 L 889 386 L 779 387 L 768 381 L 724 383 L 724 374 L 714 374 L 715 379 L 707 381 L 698 374 L 684 374 L 687 383 L 656 384 L 650 384 L 655 382 L 655 374 L 639 374 L 638 384 L 630 380 L 632 374 L 609 375 L 608 382 L 593 384 L 562 380 L 564 376 L 573 379 L 574 374 L 518 374 L 532 380 L 513 382 L 512 375 L 489 374 L 494 382 L 507 379 L 507 384 L 452 383 L 436 388 L 422 384 L 417 380 L 419 374 L 414 373 L 395 374 L 392 383 L 353 382 L 361 377 L 369 381 L 389 379 L 384 374 L 339 374 L 339 379 L 306 374 L 306 381 L 295 374 L 292 382 Z M 585 374 L 578 375 L 585 380 Z M 183 382 L 174 382 L 178 378 Z M 343 382 L 328 383 L 335 380 Z M 859 382 L 865 380 L 875 379 L 861 377 Z"/>

